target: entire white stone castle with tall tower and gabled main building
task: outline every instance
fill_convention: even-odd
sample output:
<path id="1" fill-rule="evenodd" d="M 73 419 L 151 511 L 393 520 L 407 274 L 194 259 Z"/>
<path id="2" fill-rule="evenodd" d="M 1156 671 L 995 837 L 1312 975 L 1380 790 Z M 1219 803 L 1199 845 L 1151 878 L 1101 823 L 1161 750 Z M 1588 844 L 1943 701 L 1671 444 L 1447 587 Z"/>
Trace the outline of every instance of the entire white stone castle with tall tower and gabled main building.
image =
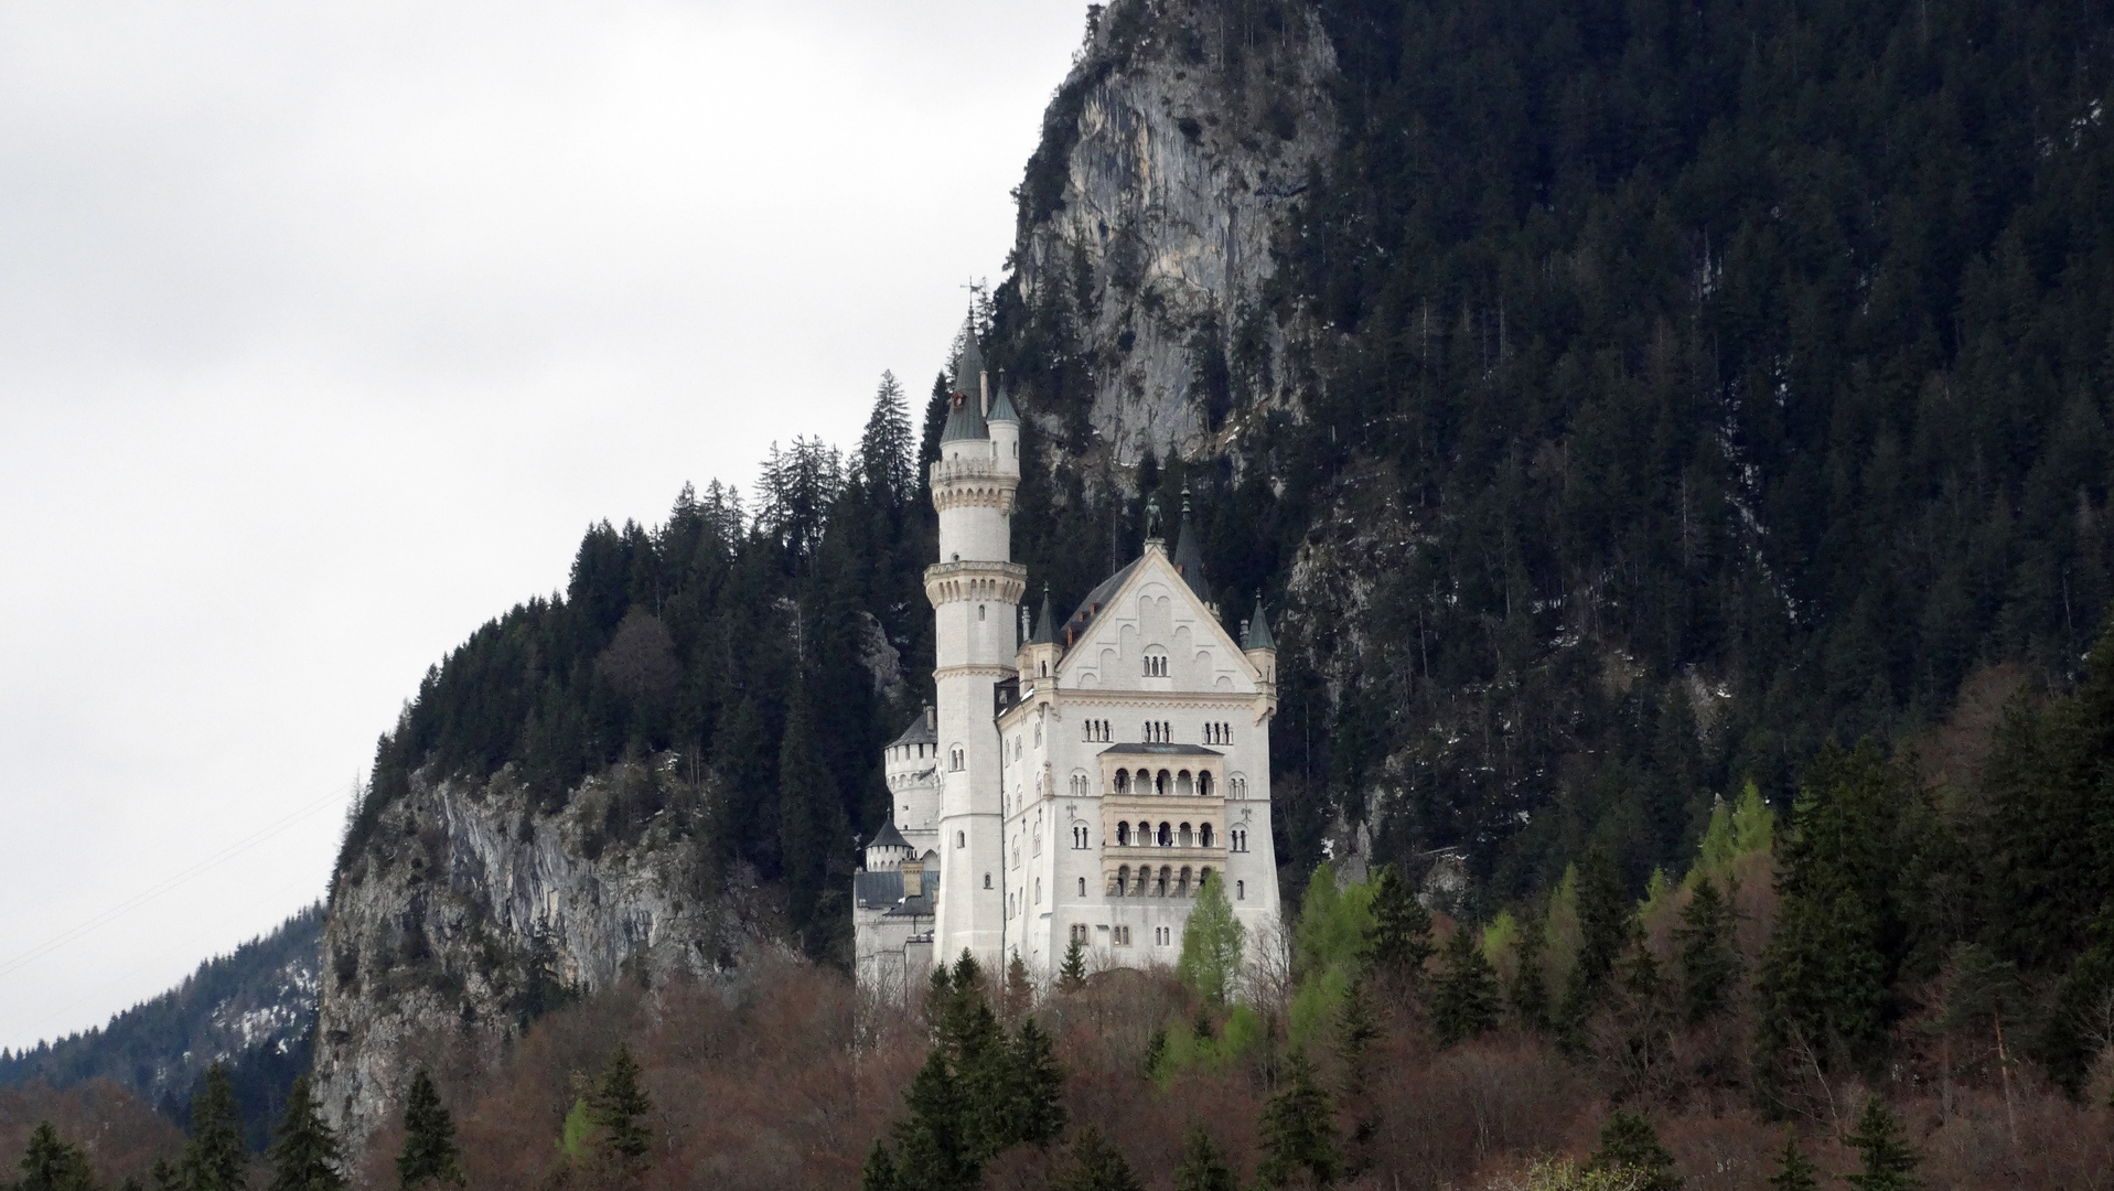
<path id="1" fill-rule="evenodd" d="M 1262 601 L 1235 641 L 1188 501 L 1173 556 L 1154 503 L 1144 552 L 1063 624 L 1044 588 L 1027 633 L 1021 423 L 964 341 L 932 463 L 939 707 L 888 747 L 892 821 L 852 878 L 858 982 L 915 992 L 964 950 L 1046 979 L 1074 939 L 1089 969 L 1171 965 L 1205 876 L 1254 939 L 1277 920 Z"/>

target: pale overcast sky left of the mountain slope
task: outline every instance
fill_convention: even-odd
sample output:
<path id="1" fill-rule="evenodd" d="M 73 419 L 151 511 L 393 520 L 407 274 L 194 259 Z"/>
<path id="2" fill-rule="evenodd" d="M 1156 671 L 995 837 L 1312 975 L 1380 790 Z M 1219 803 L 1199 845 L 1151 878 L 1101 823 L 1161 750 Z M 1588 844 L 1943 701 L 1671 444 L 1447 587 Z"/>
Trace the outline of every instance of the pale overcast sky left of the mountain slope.
<path id="1" fill-rule="evenodd" d="M 590 523 L 924 393 L 1082 28 L 0 0 L 0 1045 L 321 897 L 376 734 Z"/>

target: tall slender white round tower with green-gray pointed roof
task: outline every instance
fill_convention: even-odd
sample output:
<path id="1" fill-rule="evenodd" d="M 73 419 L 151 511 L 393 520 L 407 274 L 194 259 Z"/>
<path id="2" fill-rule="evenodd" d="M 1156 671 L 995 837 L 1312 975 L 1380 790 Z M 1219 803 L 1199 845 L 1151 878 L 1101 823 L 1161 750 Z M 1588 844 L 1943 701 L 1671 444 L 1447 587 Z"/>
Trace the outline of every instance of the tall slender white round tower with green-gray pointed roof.
<path id="1" fill-rule="evenodd" d="M 977 328 L 962 334 L 953 408 L 932 463 L 939 563 L 926 567 L 939 688 L 939 863 L 934 963 L 966 948 L 996 965 L 1004 943 L 1004 844 L 998 685 L 1019 675 L 1017 620 L 1027 569 L 1013 563 L 1013 497 L 1021 484 L 1019 417 L 991 402 Z"/>

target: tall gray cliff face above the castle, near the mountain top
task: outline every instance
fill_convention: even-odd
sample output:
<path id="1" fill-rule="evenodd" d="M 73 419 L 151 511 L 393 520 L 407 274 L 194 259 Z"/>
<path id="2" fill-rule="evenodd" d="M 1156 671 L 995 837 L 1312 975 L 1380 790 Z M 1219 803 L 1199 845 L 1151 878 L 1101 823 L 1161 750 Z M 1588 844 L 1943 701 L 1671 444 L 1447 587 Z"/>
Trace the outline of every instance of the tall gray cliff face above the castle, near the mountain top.
<path id="1" fill-rule="evenodd" d="M 1046 148 L 1072 138 L 1061 201 L 1036 212 L 1030 178 L 1015 250 L 1030 307 L 1082 298 L 1091 425 L 1120 465 L 1146 451 L 1194 459 L 1224 448 L 1237 415 L 1211 408 L 1211 353 L 1243 355 L 1251 391 L 1290 396 L 1271 381 L 1283 334 L 1256 296 L 1273 271 L 1273 237 L 1336 140 L 1325 89 L 1336 57 L 1311 13 L 1290 17 L 1304 23 L 1264 53 L 1216 8 L 1148 8 L 1133 21 L 1104 17 L 1059 89 L 1044 138 Z M 1251 347 L 1237 351 L 1243 332 Z"/>

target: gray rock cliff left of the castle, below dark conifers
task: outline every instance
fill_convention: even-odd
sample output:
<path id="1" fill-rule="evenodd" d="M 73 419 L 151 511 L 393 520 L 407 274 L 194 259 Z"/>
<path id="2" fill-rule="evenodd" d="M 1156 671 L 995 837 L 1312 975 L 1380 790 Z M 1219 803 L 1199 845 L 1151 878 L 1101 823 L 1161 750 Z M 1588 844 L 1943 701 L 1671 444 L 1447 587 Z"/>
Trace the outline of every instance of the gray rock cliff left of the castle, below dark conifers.
<path id="1" fill-rule="evenodd" d="M 402 1111 L 419 1064 L 490 1068 L 537 1009 L 619 975 L 710 975 L 759 937 L 691 838 L 704 804 L 674 757 L 552 814 L 512 768 L 419 774 L 336 874 L 323 927 L 315 1081 L 347 1142 Z"/>

